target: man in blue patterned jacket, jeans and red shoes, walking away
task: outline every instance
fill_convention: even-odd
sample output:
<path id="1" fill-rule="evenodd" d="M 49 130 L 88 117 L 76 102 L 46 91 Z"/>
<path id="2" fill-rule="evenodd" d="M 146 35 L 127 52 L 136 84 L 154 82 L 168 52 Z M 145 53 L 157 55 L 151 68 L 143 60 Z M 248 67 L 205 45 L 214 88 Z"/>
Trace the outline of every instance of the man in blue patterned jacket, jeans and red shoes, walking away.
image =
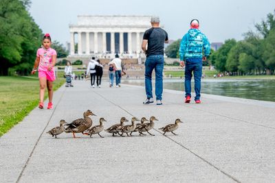
<path id="1" fill-rule="evenodd" d="M 199 31 L 199 21 L 193 19 L 190 22 L 190 29 L 181 39 L 179 46 L 180 65 L 185 66 L 185 103 L 191 100 L 191 79 L 192 72 L 195 80 L 195 103 L 201 103 L 201 73 L 202 61 L 210 54 L 210 43 L 208 38 Z"/>

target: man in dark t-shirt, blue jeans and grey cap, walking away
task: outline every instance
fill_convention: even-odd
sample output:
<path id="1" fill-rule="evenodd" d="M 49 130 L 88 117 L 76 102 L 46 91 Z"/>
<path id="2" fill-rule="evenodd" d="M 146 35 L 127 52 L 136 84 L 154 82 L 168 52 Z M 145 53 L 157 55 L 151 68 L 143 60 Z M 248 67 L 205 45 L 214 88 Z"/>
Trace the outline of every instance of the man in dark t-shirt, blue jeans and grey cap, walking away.
<path id="1" fill-rule="evenodd" d="M 147 99 L 144 104 L 153 103 L 152 72 L 155 69 L 155 96 L 157 105 L 162 105 L 162 71 L 164 68 L 164 42 L 168 43 L 168 34 L 159 27 L 159 17 L 151 18 L 152 28 L 143 35 L 142 50 L 146 54 L 145 61 L 145 90 Z M 146 49 L 147 45 L 147 49 Z"/>

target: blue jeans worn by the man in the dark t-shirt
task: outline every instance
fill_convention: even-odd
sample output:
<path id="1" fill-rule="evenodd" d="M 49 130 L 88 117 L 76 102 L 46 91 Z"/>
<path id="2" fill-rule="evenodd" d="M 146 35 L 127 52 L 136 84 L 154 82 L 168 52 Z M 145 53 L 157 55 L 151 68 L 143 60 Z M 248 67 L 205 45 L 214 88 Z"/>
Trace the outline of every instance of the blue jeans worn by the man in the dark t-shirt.
<path id="1" fill-rule="evenodd" d="M 164 68 L 164 56 L 148 56 L 145 61 L 145 90 L 147 98 L 153 98 L 152 94 L 152 72 L 155 69 L 155 96 L 162 100 L 162 71 Z"/>

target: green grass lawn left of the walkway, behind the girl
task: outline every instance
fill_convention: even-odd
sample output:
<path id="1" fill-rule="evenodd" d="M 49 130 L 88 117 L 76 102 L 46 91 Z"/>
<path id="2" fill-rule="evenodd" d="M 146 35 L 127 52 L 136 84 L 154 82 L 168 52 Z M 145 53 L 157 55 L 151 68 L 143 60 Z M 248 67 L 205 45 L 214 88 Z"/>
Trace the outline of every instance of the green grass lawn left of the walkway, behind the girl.
<path id="1" fill-rule="evenodd" d="M 37 75 L 37 74 L 36 74 Z M 59 77 L 54 90 L 64 84 Z M 47 91 L 47 90 L 46 90 Z M 47 92 L 45 92 L 47 97 Z M 39 103 L 38 77 L 0 77 L 0 136 L 8 132 Z"/>

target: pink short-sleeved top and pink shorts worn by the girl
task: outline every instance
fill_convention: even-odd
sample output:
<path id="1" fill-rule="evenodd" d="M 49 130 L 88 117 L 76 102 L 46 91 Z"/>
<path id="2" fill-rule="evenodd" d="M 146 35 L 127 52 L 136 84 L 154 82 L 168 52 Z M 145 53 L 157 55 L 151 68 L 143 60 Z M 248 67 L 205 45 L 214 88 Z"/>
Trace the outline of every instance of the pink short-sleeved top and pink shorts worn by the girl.
<path id="1" fill-rule="evenodd" d="M 47 71 L 48 66 L 52 64 L 52 56 L 56 56 L 56 51 L 52 48 L 39 48 L 37 50 L 36 56 L 40 58 L 39 78 L 46 77 L 47 80 L 49 80 L 50 82 L 56 80 L 56 75 L 54 74 L 54 67 L 52 67 L 51 71 Z"/>

